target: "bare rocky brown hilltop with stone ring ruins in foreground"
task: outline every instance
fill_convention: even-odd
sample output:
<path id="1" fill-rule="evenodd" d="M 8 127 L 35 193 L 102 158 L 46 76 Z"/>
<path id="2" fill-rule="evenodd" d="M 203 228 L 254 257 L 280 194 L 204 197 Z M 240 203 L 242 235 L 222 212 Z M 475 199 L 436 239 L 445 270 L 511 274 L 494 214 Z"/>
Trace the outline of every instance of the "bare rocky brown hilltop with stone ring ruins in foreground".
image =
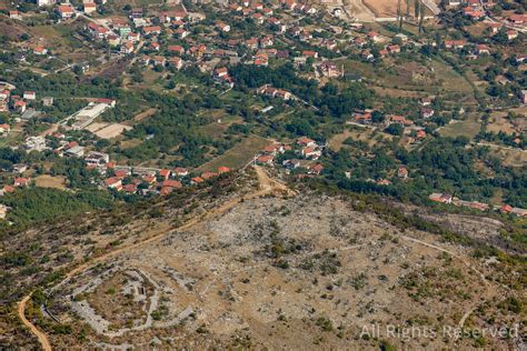
<path id="1" fill-rule="evenodd" d="M 345 200 L 251 199 L 53 289 L 50 310 L 73 332 L 50 341 L 121 349 L 521 348 L 523 325 L 501 339 L 474 333 L 525 320 L 507 310 L 515 292 L 493 262 L 354 211 Z M 456 340 L 460 325 L 473 332 Z"/>

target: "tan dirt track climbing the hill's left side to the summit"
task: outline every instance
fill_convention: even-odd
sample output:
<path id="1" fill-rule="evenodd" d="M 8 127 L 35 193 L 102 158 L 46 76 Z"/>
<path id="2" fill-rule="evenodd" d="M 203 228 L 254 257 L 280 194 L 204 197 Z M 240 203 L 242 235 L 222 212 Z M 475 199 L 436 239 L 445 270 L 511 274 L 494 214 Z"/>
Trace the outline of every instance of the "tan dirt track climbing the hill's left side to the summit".
<path id="1" fill-rule="evenodd" d="M 258 166 L 255 166 L 253 168 L 256 170 L 256 174 L 258 177 L 258 182 L 260 184 L 259 190 L 250 192 L 246 195 L 240 195 L 238 198 L 231 199 L 231 200 L 227 201 L 226 203 L 221 204 L 220 207 L 207 212 L 205 215 L 192 218 L 191 220 L 189 220 L 183 225 L 178 227 L 177 230 L 189 229 L 189 228 L 200 223 L 201 221 L 205 221 L 205 220 L 208 220 L 208 219 L 210 219 L 212 217 L 216 217 L 218 214 L 225 213 L 228 210 L 230 210 L 231 208 L 233 208 L 235 205 L 237 205 L 238 203 L 240 203 L 242 200 L 255 199 L 255 198 L 259 198 L 259 197 L 264 197 L 264 195 L 272 194 L 272 193 L 277 193 L 277 192 L 278 193 L 287 193 L 287 194 L 295 194 L 295 191 L 287 188 L 287 185 L 278 182 L 277 180 L 274 180 L 274 179 L 269 178 L 269 176 L 267 174 L 267 172 L 262 168 L 260 168 Z M 110 251 L 108 253 L 99 255 L 97 258 L 93 258 L 93 259 L 91 259 L 90 261 L 88 261 L 86 263 L 82 263 L 82 264 L 76 267 L 74 269 L 72 269 L 71 271 L 69 271 L 66 274 L 66 278 L 59 284 L 64 283 L 66 281 L 68 281 L 72 277 L 74 277 L 76 274 L 81 273 L 82 271 L 87 270 L 88 268 L 92 267 L 96 263 L 103 262 L 103 261 L 108 260 L 109 258 L 116 257 L 116 255 L 118 255 L 120 253 L 123 253 L 126 251 L 133 250 L 133 249 L 140 248 L 142 245 L 146 245 L 148 243 L 160 240 L 160 239 L 165 238 L 167 234 L 170 233 L 170 229 L 171 229 L 170 225 L 165 223 L 163 225 L 156 228 L 156 231 L 160 232 L 158 234 L 149 237 L 149 238 L 147 238 L 142 241 L 121 247 L 119 249 L 116 249 L 113 251 Z M 29 299 L 31 298 L 31 294 L 32 294 L 32 292 L 30 292 L 29 294 L 23 297 L 23 299 L 19 302 L 18 315 L 19 315 L 20 320 L 22 321 L 22 323 L 26 327 L 29 328 L 31 333 L 38 338 L 42 349 L 44 351 L 50 351 L 51 350 L 51 344 L 50 344 L 46 333 L 40 331 L 33 323 L 31 323 L 26 318 L 26 313 L 24 313 L 26 312 L 26 304 L 29 301 Z"/>

